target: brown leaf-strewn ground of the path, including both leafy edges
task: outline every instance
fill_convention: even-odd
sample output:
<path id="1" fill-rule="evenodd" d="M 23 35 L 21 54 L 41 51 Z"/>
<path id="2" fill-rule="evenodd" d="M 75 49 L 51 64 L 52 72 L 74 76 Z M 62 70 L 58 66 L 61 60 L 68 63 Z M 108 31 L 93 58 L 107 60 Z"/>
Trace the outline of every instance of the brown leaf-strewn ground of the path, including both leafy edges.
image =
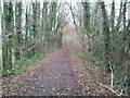
<path id="1" fill-rule="evenodd" d="M 98 84 L 103 82 L 100 68 L 86 62 L 87 70 L 73 52 L 73 48 L 61 49 L 27 72 L 3 78 L 3 95 L 108 96 L 110 93 Z"/>

